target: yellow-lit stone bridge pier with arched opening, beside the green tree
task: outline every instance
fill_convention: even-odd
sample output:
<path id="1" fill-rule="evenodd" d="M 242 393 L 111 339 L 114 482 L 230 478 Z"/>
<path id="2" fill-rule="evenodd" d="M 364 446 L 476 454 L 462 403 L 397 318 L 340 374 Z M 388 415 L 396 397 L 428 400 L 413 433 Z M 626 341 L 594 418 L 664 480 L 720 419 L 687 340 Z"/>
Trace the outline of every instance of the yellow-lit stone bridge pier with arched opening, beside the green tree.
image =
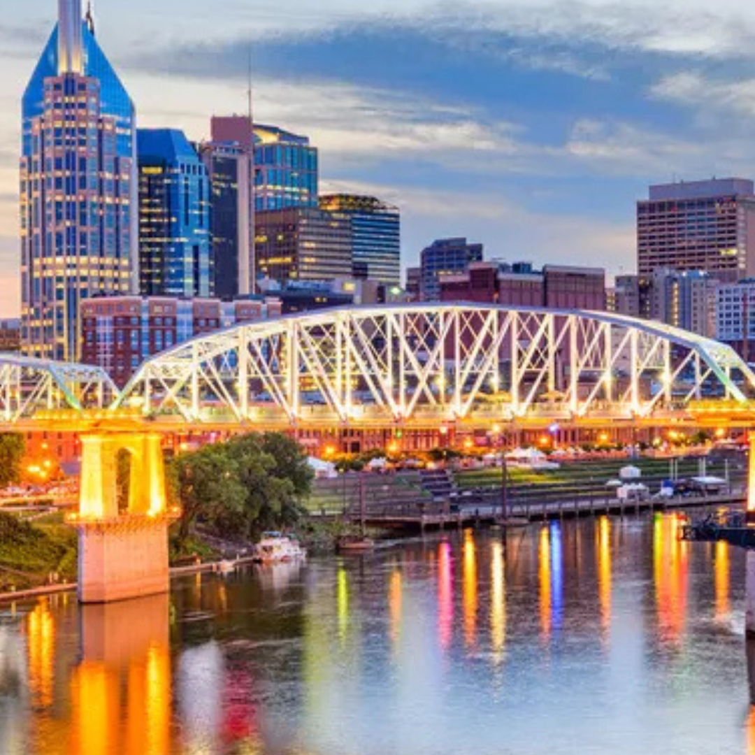
<path id="1" fill-rule="evenodd" d="M 79 601 L 106 603 L 167 593 L 165 470 L 156 433 L 82 436 L 79 513 Z M 128 504 L 119 508 L 119 454 L 131 457 Z"/>

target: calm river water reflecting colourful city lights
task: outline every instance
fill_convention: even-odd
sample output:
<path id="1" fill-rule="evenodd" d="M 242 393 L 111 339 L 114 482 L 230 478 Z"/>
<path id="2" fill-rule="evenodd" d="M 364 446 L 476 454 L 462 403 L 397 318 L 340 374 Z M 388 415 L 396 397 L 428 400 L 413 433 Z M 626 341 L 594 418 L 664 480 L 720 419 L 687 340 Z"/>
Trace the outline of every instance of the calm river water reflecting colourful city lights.
<path id="1" fill-rule="evenodd" d="M 7 607 L 0 753 L 755 755 L 744 553 L 678 530 L 454 533 Z"/>

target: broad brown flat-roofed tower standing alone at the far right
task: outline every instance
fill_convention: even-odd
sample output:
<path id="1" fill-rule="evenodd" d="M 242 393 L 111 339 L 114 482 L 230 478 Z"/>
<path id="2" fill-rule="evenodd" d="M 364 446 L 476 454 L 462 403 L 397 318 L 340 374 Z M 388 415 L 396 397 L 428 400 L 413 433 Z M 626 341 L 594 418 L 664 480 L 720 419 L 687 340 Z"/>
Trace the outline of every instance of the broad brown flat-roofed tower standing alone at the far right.
<path id="1" fill-rule="evenodd" d="M 640 276 L 704 270 L 736 281 L 755 274 L 755 187 L 741 178 L 651 186 L 637 203 Z"/>

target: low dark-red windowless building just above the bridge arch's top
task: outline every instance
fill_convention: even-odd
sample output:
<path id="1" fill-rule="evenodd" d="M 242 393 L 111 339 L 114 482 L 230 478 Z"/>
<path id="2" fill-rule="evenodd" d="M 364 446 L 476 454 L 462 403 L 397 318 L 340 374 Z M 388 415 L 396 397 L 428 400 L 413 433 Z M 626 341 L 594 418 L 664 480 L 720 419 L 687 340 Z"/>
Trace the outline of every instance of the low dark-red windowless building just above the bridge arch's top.
<path id="1" fill-rule="evenodd" d="M 439 279 L 442 301 L 470 301 L 512 307 L 605 310 L 606 271 L 592 267 L 473 262 L 464 273 Z"/>

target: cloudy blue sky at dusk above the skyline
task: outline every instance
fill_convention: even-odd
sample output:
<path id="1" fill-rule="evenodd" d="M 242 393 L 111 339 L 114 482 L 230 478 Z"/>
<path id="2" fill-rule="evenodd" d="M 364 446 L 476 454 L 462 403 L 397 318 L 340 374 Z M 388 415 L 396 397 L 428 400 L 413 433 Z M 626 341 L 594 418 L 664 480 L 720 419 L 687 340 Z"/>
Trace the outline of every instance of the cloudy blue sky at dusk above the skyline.
<path id="1" fill-rule="evenodd" d="M 18 311 L 20 97 L 55 0 L 0 0 L 0 316 Z M 245 112 L 320 148 L 321 190 L 488 259 L 636 266 L 649 183 L 755 177 L 755 4 L 741 0 L 96 0 L 139 125 Z M 251 53 L 250 53 L 251 51 Z"/>

